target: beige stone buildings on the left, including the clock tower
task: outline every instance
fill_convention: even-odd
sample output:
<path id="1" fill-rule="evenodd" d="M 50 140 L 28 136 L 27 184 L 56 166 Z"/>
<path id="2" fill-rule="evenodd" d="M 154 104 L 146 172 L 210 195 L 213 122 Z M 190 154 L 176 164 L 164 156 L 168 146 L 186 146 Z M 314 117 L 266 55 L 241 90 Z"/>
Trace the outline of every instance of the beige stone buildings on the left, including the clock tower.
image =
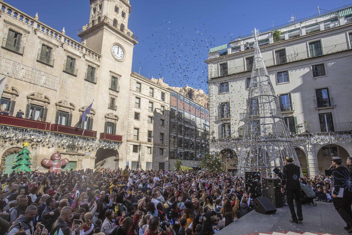
<path id="1" fill-rule="evenodd" d="M 138 38 L 129 0 L 90 0 L 81 42 L 0 4 L 0 76 L 8 74 L 0 102 L 10 111 L 0 115 L 0 171 L 12 171 L 25 141 L 40 171 L 56 152 L 69 159 L 64 169 L 170 168 L 171 89 L 131 72 Z"/>

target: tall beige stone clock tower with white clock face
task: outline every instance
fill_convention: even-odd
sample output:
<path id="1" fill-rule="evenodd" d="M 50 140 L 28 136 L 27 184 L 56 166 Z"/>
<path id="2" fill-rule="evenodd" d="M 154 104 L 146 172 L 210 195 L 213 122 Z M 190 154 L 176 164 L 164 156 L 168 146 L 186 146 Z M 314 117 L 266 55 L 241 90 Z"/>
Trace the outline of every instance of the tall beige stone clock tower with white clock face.
<path id="1" fill-rule="evenodd" d="M 95 69 L 98 103 L 96 114 L 99 129 L 106 130 L 106 123 L 113 123 L 116 135 L 122 135 L 122 144 L 116 160 L 122 166 L 126 156 L 129 86 L 132 69 L 133 47 L 138 38 L 128 29 L 131 5 L 129 0 L 90 0 L 87 25 L 78 30 L 78 36 L 88 48 L 100 53 L 101 62 Z M 87 63 L 88 57 L 86 59 Z M 113 107 L 111 106 L 114 101 Z M 105 127 L 104 127 L 105 125 Z"/>

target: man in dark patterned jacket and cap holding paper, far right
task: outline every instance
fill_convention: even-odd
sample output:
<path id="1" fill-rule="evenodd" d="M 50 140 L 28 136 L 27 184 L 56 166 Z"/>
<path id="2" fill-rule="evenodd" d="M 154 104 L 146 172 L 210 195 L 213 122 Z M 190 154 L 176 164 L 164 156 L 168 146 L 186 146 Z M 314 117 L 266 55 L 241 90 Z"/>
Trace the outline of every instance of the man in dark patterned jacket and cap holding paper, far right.
<path id="1" fill-rule="evenodd" d="M 348 233 L 352 233 L 352 190 L 351 178 L 347 168 L 341 165 L 340 157 L 335 156 L 331 160 L 332 167 L 332 197 L 333 204 L 341 218 L 346 222 L 347 226 L 344 229 Z"/>

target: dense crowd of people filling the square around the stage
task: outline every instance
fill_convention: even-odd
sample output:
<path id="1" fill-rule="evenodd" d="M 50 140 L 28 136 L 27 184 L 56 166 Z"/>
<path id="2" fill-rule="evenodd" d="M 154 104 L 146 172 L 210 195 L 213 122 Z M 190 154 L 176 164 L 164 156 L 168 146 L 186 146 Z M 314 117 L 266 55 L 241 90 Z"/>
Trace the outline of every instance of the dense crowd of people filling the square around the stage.
<path id="1" fill-rule="evenodd" d="M 329 193 L 329 177 L 301 181 L 317 197 L 320 186 Z M 126 166 L 13 172 L 0 184 L 0 235 L 212 235 L 253 209 L 231 173 Z"/>

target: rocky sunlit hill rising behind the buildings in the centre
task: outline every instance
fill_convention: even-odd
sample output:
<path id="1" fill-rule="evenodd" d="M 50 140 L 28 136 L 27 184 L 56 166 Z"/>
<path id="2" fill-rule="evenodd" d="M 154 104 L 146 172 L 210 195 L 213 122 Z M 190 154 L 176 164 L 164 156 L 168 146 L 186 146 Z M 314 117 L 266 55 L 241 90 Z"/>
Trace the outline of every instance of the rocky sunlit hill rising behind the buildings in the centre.
<path id="1" fill-rule="evenodd" d="M 152 78 L 152 82 L 155 82 L 161 87 L 164 88 L 171 88 L 175 91 L 177 91 L 180 94 L 183 94 L 184 96 L 188 97 L 191 100 L 196 101 L 198 104 L 205 106 L 207 109 L 209 109 L 209 96 L 202 90 L 202 89 L 195 89 L 193 87 L 190 87 L 188 85 L 184 87 L 172 87 L 166 84 L 162 78 L 156 79 Z"/>

